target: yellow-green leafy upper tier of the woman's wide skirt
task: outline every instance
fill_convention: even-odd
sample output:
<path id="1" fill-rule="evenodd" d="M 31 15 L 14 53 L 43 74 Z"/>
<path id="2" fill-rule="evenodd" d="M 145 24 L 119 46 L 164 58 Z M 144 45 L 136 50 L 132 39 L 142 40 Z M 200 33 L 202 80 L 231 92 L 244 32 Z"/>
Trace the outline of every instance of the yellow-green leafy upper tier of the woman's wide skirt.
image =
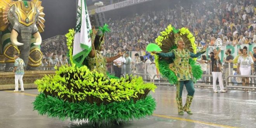
<path id="1" fill-rule="evenodd" d="M 69 102 L 88 101 L 108 104 L 130 99 L 139 100 L 156 89 L 153 83 L 144 83 L 142 77 L 126 75 L 109 79 L 103 73 L 90 71 L 86 66 L 61 66 L 55 75 L 36 80 L 38 91 L 57 96 Z"/>

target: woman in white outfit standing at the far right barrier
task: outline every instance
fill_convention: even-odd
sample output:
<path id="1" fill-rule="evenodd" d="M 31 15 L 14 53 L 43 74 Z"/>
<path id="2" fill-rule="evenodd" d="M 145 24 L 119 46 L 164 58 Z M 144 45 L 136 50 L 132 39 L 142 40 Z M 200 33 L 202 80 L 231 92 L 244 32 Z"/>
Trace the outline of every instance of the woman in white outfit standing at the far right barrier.
<path id="1" fill-rule="evenodd" d="M 243 54 L 239 56 L 237 64 L 238 74 L 251 75 L 251 73 L 254 73 L 253 58 L 247 55 L 247 47 L 243 48 Z M 249 78 L 242 78 L 242 85 L 249 86 Z M 249 89 L 244 89 L 244 92 L 248 91 Z"/>

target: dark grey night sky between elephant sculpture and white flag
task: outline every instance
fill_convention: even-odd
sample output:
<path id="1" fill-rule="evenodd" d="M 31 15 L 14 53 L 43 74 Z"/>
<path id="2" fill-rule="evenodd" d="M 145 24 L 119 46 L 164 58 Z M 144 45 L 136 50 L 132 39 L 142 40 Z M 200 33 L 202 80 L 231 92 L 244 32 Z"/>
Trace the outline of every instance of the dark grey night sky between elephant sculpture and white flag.
<path id="1" fill-rule="evenodd" d="M 30 1 L 30 0 L 28 0 Z M 64 35 L 76 25 L 76 0 L 41 0 L 45 13 L 43 40 Z"/>

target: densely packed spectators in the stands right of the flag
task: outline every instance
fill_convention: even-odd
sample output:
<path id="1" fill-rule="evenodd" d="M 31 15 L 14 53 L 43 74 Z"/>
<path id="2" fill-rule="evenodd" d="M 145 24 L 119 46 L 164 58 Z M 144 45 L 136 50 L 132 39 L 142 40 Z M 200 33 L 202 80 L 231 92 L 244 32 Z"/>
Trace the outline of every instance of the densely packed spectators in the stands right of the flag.
<path id="1" fill-rule="evenodd" d="M 217 38 L 223 45 L 256 43 L 254 0 L 203 0 L 190 7 L 182 3 L 172 9 L 148 11 L 133 17 L 111 20 L 105 52 L 145 50 L 148 43 L 169 24 L 186 27 L 195 35 L 197 46 L 213 46 Z"/>

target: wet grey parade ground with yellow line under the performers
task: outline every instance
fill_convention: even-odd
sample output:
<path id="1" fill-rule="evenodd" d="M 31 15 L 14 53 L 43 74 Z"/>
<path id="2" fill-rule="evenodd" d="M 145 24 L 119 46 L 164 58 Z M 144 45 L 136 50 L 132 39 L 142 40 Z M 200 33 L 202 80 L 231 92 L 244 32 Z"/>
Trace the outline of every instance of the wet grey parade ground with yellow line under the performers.
<path id="1" fill-rule="evenodd" d="M 36 89 L 14 93 L 0 91 L 0 128 L 92 128 L 86 123 L 60 121 L 38 115 L 31 104 L 39 92 Z M 195 89 L 192 102 L 193 115 L 184 112 L 178 116 L 175 101 L 176 88 L 158 86 L 150 93 L 157 102 L 152 116 L 128 124 L 102 126 L 102 128 L 255 128 L 256 93 L 230 90 L 227 93 L 213 93 L 210 89 Z M 186 100 L 183 90 L 183 104 Z"/>

